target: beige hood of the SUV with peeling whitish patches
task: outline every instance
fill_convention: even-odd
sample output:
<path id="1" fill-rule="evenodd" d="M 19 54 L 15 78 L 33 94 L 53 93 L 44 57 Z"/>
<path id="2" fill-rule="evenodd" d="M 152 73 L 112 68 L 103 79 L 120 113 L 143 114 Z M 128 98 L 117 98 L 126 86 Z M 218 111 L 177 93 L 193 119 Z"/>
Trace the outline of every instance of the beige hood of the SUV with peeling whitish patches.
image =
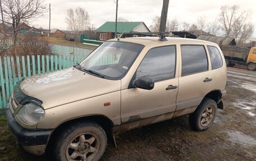
<path id="1" fill-rule="evenodd" d="M 20 82 L 21 90 L 42 100 L 44 109 L 118 91 L 121 80 L 107 80 L 76 68 L 32 76 Z"/>

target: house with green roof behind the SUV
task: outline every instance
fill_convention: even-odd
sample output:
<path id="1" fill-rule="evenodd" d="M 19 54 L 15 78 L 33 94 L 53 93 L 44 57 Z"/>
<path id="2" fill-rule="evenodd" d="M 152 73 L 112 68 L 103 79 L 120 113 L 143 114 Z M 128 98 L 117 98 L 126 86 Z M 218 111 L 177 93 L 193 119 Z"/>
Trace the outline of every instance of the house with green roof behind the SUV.
<path id="1" fill-rule="evenodd" d="M 95 31 L 97 32 L 97 36 L 99 40 L 108 40 L 115 38 L 115 25 L 116 22 L 105 22 Z M 117 35 L 121 35 L 122 33 L 126 33 L 122 35 L 122 38 L 127 37 L 139 37 L 139 36 L 151 36 L 147 25 L 144 22 L 117 22 Z M 141 34 L 138 34 L 141 33 Z"/>

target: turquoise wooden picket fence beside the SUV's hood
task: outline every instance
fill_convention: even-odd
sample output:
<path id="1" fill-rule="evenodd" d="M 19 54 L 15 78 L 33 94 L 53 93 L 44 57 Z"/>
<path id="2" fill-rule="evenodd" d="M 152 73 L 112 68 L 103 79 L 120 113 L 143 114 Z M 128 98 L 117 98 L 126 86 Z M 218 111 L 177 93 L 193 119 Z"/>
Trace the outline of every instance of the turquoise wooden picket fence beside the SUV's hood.
<path id="1" fill-rule="evenodd" d="M 72 67 L 88 54 L 0 57 L 0 109 L 5 108 L 13 87 L 22 78 Z"/>

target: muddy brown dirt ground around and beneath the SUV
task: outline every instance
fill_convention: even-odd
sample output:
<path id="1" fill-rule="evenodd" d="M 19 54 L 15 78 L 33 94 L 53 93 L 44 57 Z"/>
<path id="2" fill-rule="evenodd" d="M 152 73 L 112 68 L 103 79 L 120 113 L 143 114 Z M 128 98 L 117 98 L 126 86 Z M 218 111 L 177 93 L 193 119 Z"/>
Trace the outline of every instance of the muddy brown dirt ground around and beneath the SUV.
<path id="1" fill-rule="evenodd" d="M 102 160 L 256 160 L 256 72 L 228 68 L 227 76 L 225 109 L 207 131 L 192 131 L 188 116 L 141 127 L 116 136 Z M 51 160 L 15 148 L 2 126 L 0 160 Z"/>

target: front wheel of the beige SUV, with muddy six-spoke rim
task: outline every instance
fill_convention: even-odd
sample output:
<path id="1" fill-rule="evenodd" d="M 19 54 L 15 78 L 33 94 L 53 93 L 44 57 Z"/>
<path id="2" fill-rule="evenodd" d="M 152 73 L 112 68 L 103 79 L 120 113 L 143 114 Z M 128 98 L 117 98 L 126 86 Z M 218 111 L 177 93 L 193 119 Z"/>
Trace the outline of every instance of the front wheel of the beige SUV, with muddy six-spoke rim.
<path id="1" fill-rule="evenodd" d="M 97 161 L 106 150 L 107 136 L 97 123 L 77 122 L 60 133 L 54 146 L 58 161 Z"/>

